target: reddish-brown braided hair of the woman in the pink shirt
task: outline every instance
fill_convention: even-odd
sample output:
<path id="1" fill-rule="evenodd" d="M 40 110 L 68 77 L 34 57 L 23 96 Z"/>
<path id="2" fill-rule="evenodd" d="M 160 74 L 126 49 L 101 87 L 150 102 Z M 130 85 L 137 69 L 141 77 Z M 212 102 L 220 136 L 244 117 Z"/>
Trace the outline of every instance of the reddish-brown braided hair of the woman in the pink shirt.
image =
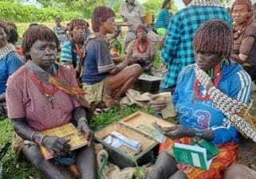
<path id="1" fill-rule="evenodd" d="M 56 43 L 57 48 L 60 45 L 57 36 L 55 35 L 55 33 L 53 33 L 53 30 L 49 29 L 49 27 L 46 27 L 45 25 L 37 25 L 27 29 L 26 32 L 23 34 L 23 53 L 30 53 L 30 49 L 36 41 L 53 41 Z M 26 56 L 25 58 L 25 60 L 30 60 L 29 56 Z"/>

